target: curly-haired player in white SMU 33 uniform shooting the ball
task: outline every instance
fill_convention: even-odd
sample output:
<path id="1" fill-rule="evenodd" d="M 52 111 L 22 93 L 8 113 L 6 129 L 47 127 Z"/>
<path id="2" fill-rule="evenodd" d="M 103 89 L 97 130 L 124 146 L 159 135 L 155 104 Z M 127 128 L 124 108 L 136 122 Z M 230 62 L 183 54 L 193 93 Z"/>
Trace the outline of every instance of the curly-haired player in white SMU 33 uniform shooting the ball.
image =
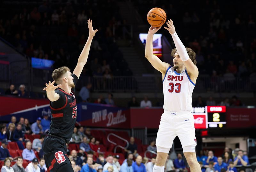
<path id="1" fill-rule="evenodd" d="M 171 53 L 173 66 L 153 55 L 153 35 L 161 27 L 149 28 L 145 50 L 145 57 L 162 73 L 164 91 L 164 113 L 156 137 L 157 156 L 153 172 L 164 172 L 164 164 L 176 136 L 180 139 L 190 171 L 200 172 L 201 168 L 196 160 L 194 117 L 191 113 L 191 96 L 198 76 L 196 53 L 191 48 L 184 47 L 172 20 L 167 21 L 167 26 L 164 28 L 172 35 L 176 47 Z"/>

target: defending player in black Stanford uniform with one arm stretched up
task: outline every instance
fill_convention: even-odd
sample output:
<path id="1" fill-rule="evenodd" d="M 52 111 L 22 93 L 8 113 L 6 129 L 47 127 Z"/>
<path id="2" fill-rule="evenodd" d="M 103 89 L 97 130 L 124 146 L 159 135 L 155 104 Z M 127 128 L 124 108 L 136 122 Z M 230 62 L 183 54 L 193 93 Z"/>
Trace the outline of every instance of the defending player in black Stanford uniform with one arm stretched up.
<path id="1" fill-rule="evenodd" d="M 52 121 L 50 130 L 43 142 L 44 160 L 48 172 L 73 172 L 68 159 L 66 143 L 72 137 L 77 118 L 75 85 L 84 68 L 90 51 L 93 36 L 92 20 L 87 20 L 89 37 L 78 58 L 73 74 L 68 67 L 55 69 L 52 73 L 53 82 L 45 84 L 47 97 L 50 100 Z M 58 85 L 54 86 L 54 82 Z"/>

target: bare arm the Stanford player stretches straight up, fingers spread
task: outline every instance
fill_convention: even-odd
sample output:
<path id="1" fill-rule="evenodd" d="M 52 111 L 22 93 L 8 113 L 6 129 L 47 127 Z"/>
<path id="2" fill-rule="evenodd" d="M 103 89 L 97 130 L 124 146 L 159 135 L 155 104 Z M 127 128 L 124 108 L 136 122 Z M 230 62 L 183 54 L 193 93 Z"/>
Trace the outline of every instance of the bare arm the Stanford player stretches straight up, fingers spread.
<path id="1" fill-rule="evenodd" d="M 84 48 L 83 48 L 80 56 L 78 58 L 76 68 L 73 71 L 73 74 L 75 74 L 78 78 L 84 68 L 85 63 L 87 62 L 92 39 L 93 39 L 95 33 L 98 31 L 98 29 L 93 30 L 92 20 L 90 18 L 89 18 L 89 20 L 87 20 L 87 24 L 88 24 L 88 28 L 89 28 L 89 36 L 88 36 L 88 39 L 86 41 L 86 44 L 84 45 Z"/>

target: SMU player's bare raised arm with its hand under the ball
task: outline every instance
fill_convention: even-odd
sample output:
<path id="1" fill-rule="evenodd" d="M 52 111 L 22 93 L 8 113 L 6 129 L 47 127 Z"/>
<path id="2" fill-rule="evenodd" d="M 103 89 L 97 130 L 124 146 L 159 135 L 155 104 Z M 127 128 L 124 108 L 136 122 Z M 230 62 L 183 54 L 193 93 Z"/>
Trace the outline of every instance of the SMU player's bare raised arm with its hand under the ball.
<path id="1" fill-rule="evenodd" d="M 170 66 L 170 64 L 161 61 L 156 55 L 153 54 L 153 36 L 160 28 L 161 27 L 154 26 L 149 28 L 145 48 L 145 57 L 156 70 L 162 74 L 165 74 L 166 69 Z"/>

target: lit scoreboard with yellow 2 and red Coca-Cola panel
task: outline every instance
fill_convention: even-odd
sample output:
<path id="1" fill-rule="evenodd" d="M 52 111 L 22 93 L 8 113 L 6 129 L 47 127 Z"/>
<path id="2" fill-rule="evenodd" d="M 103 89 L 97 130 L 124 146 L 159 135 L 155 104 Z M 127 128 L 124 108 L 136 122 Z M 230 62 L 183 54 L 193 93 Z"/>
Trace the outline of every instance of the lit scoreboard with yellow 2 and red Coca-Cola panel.
<path id="1" fill-rule="evenodd" d="M 222 128 L 226 122 L 226 106 L 205 106 L 192 109 L 195 128 Z"/>

